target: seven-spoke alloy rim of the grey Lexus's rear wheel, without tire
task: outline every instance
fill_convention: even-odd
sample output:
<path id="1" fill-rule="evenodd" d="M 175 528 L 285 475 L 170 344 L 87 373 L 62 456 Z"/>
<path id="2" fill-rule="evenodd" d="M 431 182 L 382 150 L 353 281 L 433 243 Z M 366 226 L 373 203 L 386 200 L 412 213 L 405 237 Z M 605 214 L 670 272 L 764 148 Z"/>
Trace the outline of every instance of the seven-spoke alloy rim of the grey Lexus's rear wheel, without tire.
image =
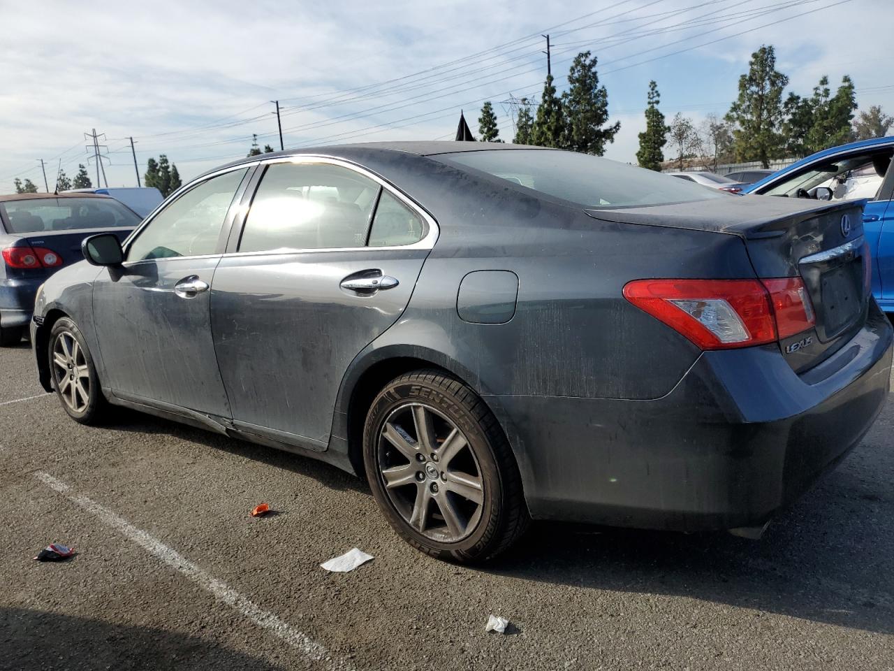
<path id="1" fill-rule="evenodd" d="M 378 471 L 392 505 L 414 530 L 443 543 L 475 531 L 485 484 L 468 438 L 423 403 L 396 408 L 378 439 Z"/>

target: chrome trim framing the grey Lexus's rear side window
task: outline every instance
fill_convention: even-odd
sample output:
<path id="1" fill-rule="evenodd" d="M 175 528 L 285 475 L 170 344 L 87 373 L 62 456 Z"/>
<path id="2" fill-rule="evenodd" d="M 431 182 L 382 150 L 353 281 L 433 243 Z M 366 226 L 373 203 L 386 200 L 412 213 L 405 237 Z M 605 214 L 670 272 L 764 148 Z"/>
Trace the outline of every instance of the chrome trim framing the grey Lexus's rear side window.
<path id="1" fill-rule="evenodd" d="M 384 178 L 375 174 L 374 172 L 367 170 L 367 168 L 363 166 L 359 166 L 356 163 L 352 163 L 344 158 L 338 158 L 333 156 L 327 156 L 325 154 L 299 154 L 296 156 L 287 156 L 287 157 L 275 157 L 268 158 L 266 160 L 258 161 L 261 166 L 274 166 L 276 164 L 281 163 L 291 163 L 293 165 L 298 166 L 315 166 L 315 165 L 323 165 L 323 166 L 339 166 L 350 170 L 353 173 L 360 174 L 367 179 L 372 180 L 377 183 L 384 191 L 388 191 L 394 198 L 400 200 L 409 210 L 415 214 L 417 217 L 422 219 L 424 225 L 426 225 L 426 234 L 422 236 L 420 240 L 417 242 L 412 242 L 410 244 L 401 244 L 401 245 L 388 245 L 381 247 L 372 247 L 369 245 L 359 245 L 358 247 L 310 247 L 310 248 L 280 248 L 279 250 L 261 250 L 261 251 L 228 251 L 223 254 L 224 257 L 232 257 L 232 256 L 240 256 L 240 255 L 253 255 L 257 256 L 260 254 L 303 254 L 312 251 L 358 251 L 358 250 L 383 250 L 383 251 L 395 251 L 395 250 L 431 250 L 434 248 L 434 243 L 437 242 L 438 235 L 441 233 L 441 229 L 438 227 L 438 223 L 434 220 L 425 208 L 419 205 L 415 200 L 409 198 L 409 196 L 394 186 L 392 183 L 387 182 Z M 264 183 L 264 177 L 261 176 L 260 182 L 257 184 L 258 188 L 260 185 Z M 245 225 L 249 221 L 250 217 L 250 204 L 249 204 L 249 213 L 245 216 L 242 221 L 242 227 L 244 229 Z M 375 216 L 373 217 L 373 223 L 375 225 Z"/>

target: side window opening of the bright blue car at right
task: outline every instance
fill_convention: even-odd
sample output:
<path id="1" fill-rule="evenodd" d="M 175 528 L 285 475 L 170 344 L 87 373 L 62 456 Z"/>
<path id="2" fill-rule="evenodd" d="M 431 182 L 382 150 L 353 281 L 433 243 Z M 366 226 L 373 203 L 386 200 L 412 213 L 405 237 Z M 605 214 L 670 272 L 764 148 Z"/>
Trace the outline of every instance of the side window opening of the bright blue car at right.
<path id="1" fill-rule="evenodd" d="M 809 197 L 818 186 L 831 189 L 831 200 L 875 198 L 890 163 L 890 149 L 884 153 L 859 154 L 838 160 L 829 159 L 793 171 L 774 183 L 765 196 Z"/>

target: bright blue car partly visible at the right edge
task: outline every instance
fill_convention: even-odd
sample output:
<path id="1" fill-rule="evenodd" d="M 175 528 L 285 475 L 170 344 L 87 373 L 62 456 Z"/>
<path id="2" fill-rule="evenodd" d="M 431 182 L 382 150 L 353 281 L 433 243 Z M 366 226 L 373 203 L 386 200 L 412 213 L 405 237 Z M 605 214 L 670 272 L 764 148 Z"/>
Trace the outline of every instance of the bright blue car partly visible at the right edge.
<path id="1" fill-rule="evenodd" d="M 743 193 L 814 200 L 865 200 L 863 229 L 873 258 L 873 295 L 894 312 L 894 137 L 861 140 L 813 156 L 747 186 Z"/>

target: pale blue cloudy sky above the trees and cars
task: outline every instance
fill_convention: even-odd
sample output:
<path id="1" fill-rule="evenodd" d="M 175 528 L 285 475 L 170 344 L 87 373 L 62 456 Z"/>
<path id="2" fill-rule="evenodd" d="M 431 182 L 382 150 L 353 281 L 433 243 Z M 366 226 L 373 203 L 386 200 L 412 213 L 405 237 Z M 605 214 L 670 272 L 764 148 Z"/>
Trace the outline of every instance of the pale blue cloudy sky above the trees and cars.
<path id="1" fill-rule="evenodd" d="M 27 7 L 27 11 L 26 10 Z M 789 89 L 809 94 L 850 74 L 863 108 L 894 113 L 890 0 L 491 0 L 426 2 L 114 3 L 0 0 L 0 192 L 13 178 L 42 189 L 60 166 L 96 164 L 96 128 L 111 186 L 134 186 L 166 154 L 184 179 L 245 156 L 252 134 L 285 146 L 364 140 L 451 140 L 460 109 L 477 131 L 490 99 L 503 137 L 510 97 L 539 97 L 552 72 L 590 49 L 621 132 L 607 156 L 634 161 L 648 81 L 670 118 L 722 115 L 762 44 L 776 47 Z M 92 152 L 90 152 L 92 154 Z"/>

